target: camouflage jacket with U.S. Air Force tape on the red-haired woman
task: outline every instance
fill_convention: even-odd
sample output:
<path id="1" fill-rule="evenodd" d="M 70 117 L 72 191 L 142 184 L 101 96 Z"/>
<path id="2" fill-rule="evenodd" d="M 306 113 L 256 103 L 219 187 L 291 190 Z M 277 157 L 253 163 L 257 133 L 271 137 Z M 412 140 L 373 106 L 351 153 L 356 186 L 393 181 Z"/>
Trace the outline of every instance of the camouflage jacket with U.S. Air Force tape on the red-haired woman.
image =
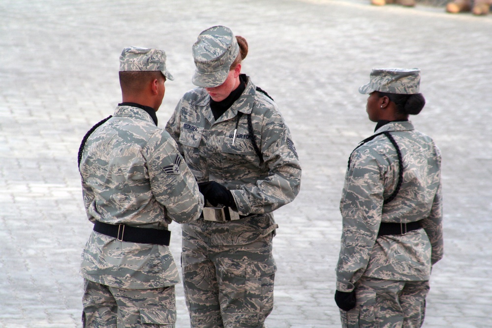
<path id="1" fill-rule="evenodd" d="M 248 115 L 263 162 L 253 148 Z M 290 203 L 299 193 L 301 166 L 277 105 L 249 78 L 243 94 L 217 120 L 207 91 L 188 91 L 166 130 L 178 143 L 198 182 L 215 180 L 223 184 L 231 190 L 239 214 L 250 215 L 226 223 L 205 223 L 200 219 L 186 224 L 184 229 L 216 229 L 212 234 L 214 244 L 241 245 L 277 228 L 272 211 Z"/>

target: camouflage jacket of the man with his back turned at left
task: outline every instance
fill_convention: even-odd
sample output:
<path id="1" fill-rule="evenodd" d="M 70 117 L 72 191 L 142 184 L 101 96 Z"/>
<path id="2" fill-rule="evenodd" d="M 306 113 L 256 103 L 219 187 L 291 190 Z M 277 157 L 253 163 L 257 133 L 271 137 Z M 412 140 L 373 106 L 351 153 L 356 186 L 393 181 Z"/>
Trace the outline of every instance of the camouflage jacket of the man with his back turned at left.
<path id="1" fill-rule="evenodd" d="M 88 218 L 109 224 L 167 229 L 202 210 L 198 191 L 177 145 L 144 110 L 118 106 L 87 140 L 79 166 Z M 96 283 L 127 289 L 179 283 L 169 248 L 119 241 L 92 231 L 81 272 Z"/>

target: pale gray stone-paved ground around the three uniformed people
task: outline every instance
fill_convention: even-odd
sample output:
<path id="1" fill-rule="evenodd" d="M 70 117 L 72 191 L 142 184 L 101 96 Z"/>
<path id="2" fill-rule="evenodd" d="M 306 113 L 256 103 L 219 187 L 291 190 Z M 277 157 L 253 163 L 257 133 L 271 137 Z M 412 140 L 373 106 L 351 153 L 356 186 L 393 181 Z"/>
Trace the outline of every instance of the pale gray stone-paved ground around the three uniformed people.
<path id="1" fill-rule="evenodd" d="M 123 47 L 168 52 L 169 118 L 192 88 L 191 45 L 224 24 L 249 41 L 243 71 L 276 99 L 303 164 L 277 210 L 269 328 L 339 327 L 333 300 L 347 156 L 369 136 L 373 67 L 422 69 L 413 119 L 442 149 L 446 255 L 424 327 L 492 327 L 492 16 L 365 0 L 1 0 L 0 328 L 81 327 L 80 253 L 91 231 L 76 165 L 85 132 L 121 101 Z M 172 225 L 180 255 L 180 227 Z M 177 328 L 189 327 L 177 286 Z"/>

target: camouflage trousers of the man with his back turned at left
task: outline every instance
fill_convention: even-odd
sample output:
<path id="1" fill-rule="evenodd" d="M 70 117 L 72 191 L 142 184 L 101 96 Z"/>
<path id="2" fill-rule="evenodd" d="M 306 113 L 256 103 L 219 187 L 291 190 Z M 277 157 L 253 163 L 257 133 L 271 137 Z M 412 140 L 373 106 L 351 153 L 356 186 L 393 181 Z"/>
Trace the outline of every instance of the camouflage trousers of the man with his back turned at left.
<path id="1" fill-rule="evenodd" d="M 84 328 L 174 328 L 174 286 L 122 289 L 84 280 Z"/>

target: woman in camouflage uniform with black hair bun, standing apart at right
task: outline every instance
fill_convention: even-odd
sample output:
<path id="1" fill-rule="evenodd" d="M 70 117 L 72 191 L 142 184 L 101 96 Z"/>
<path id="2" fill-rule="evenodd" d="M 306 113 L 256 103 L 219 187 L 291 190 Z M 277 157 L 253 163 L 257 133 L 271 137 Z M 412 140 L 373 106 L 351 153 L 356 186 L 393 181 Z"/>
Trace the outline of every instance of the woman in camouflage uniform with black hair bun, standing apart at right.
<path id="1" fill-rule="evenodd" d="M 340 202 L 335 299 L 342 327 L 409 328 L 424 321 L 443 237 L 440 151 L 408 121 L 425 104 L 419 85 L 418 69 L 374 69 L 359 89 L 370 94 L 369 119 L 378 124 L 350 156 Z M 407 113 L 407 104 L 406 115 L 390 119 L 397 105 L 379 92 L 424 100 L 415 113 Z"/>

